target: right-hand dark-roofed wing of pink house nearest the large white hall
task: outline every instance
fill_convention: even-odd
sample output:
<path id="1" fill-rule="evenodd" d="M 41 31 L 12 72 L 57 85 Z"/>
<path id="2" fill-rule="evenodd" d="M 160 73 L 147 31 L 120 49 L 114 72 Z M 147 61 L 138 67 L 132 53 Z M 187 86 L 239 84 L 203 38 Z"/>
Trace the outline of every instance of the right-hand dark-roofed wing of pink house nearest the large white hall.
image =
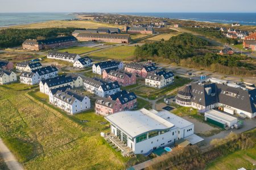
<path id="1" fill-rule="evenodd" d="M 122 107 L 122 111 L 131 110 L 137 107 L 137 96 L 134 92 L 127 93 L 125 90 L 110 95 L 109 99 L 117 101 Z"/>

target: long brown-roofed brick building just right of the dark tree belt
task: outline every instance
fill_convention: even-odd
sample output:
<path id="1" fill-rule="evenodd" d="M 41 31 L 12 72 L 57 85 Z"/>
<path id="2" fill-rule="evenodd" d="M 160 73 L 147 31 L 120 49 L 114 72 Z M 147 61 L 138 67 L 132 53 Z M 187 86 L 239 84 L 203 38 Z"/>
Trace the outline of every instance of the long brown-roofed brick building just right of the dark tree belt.
<path id="1" fill-rule="evenodd" d="M 119 44 L 129 44 L 130 35 L 117 33 L 79 33 L 76 36 L 79 41 L 99 41 L 99 42 L 115 42 Z"/>

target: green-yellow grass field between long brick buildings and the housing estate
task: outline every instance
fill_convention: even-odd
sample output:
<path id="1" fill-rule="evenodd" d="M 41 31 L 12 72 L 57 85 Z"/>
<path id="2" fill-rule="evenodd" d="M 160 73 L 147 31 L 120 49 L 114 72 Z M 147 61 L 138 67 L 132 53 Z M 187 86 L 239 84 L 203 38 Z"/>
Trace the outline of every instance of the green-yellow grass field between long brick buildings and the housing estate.
<path id="1" fill-rule="evenodd" d="M 90 53 L 89 56 L 97 58 L 121 59 L 131 61 L 134 59 L 135 46 L 114 46 L 100 52 Z"/>

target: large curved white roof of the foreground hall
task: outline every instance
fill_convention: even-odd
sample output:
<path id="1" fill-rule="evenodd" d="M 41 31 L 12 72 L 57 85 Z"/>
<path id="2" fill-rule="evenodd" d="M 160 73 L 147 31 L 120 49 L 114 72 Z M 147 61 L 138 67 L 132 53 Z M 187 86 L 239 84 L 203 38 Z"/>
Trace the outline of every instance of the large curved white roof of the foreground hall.
<path id="1" fill-rule="evenodd" d="M 156 111 L 141 109 L 139 111 L 123 111 L 106 116 L 108 120 L 130 137 L 135 138 L 138 135 L 154 130 L 165 130 L 174 127 L 170 121 L 155 114 Z"/>

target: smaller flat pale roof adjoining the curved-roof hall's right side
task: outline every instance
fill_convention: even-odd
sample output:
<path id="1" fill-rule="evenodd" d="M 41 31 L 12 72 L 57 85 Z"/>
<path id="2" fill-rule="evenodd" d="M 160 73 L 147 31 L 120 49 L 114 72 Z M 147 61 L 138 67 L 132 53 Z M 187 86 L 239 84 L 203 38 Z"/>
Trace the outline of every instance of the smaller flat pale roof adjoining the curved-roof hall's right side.
<path id="1" fill-rule="evenodd" d="M 185 120 L 184 118 L 181 118 L 176 114 L 173 114 L 166 110 L 157 112 L 155 114 L 158 115 L 159 117 L 162 117 L 164 120 L 170 122 L 171 124 L 174 124 L 177 128 L 180 128 L 180 129 L 193 125 L 191 122 Z"/>

